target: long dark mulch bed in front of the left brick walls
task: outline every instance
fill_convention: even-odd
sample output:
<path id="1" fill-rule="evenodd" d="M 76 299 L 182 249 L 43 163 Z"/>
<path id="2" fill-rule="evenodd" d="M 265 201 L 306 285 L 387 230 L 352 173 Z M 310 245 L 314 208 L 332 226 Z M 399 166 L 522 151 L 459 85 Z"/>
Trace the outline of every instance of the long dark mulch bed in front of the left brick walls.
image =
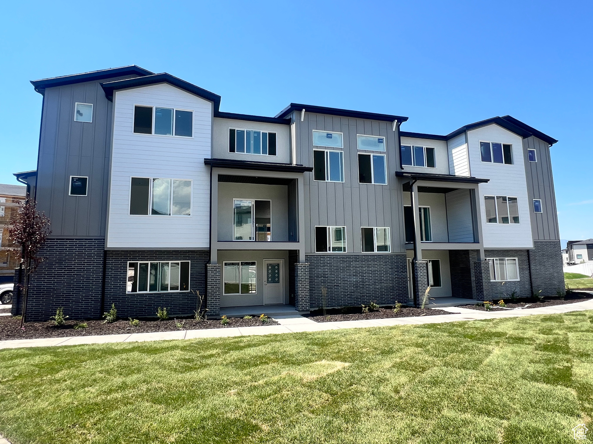
<path id="1" fill-rule="evenodd" d="M 195 321 L 193 319 L 180 319 L 183 327 L 177 328 L 175 321 L 141 320 L 138 327 L 130 326 L 130 321 L 120 320 L 111 324 L 104 324 L 102 320 L 69 320 L 63 326 L 55 326 L 51 321 L 47 322 L 26 322 L 25 330 L 20 329 L 20 318 L 13 316 L 0 316 L 0 340 L 5 339 L 40 339 L 42 337 L 62 337 L 62 336 L 91 336 L 93 334 L 129 334 L 129 333 L 154 333 L 170 332 L 171 330 L 200 330 L 200 329 L 224 329 L 226 327 L 254 327 L 278 325 L 272 319 L 266 324 L 257 317 L 253 319 L 243 319 L 237 317 L 229 318 L 228 325 L 221 324 L 219 319 L 208 319 L 205 321 Z M 88 327 L 85 329 L 74 329 L 74 325 L 85 322 Z"/>

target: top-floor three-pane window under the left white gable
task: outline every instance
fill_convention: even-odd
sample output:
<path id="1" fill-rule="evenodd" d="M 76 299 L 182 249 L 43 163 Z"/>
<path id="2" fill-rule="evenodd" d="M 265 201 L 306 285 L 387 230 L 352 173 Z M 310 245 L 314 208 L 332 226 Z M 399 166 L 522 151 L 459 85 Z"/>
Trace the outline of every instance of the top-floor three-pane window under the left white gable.
<path id="1" fill-rule="evenodd" d="M 193 111 L 135 105 L 134 133 L 193 137 Z"/>

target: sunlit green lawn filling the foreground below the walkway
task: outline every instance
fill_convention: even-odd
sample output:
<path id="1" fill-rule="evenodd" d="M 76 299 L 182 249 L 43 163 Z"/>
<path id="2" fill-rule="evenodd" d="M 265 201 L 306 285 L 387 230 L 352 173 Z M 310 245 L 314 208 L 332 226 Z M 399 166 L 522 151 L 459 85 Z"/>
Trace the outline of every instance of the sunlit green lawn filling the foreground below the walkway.
<path id="1" fill-rule="evenodd" d="M 0 350 L 23 443 L 573 443 L 593 430 L 593 311 Z M 591 432 L 590 432 L 591 433 Z"/>

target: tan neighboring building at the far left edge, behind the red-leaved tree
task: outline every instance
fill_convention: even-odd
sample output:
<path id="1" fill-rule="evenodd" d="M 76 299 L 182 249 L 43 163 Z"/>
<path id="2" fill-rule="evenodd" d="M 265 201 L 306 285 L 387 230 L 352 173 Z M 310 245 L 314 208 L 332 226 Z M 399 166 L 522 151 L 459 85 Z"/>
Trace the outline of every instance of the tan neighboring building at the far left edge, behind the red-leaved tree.
<path id="1" fill-rule="evenodd" d="M 24 185 L 0 184 L 0 282 L 4 275 L 13 275 L 18 267 L 21 256 L 9 250 L 14 245 L 8 240 L 8 221 L 18 210 L 18 205 L 23 202 L 27 194 Z"/>

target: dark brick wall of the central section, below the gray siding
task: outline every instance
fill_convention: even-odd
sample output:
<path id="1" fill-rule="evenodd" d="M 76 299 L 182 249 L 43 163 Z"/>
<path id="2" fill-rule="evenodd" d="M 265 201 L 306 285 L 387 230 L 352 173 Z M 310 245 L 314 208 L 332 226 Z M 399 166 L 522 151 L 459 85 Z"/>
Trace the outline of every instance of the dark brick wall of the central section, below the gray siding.
<path id="1" fill-rule="evenodd" d="M 307 255 L 311 310 L 327 307 L 408 301 L 406 255 Z"/>

